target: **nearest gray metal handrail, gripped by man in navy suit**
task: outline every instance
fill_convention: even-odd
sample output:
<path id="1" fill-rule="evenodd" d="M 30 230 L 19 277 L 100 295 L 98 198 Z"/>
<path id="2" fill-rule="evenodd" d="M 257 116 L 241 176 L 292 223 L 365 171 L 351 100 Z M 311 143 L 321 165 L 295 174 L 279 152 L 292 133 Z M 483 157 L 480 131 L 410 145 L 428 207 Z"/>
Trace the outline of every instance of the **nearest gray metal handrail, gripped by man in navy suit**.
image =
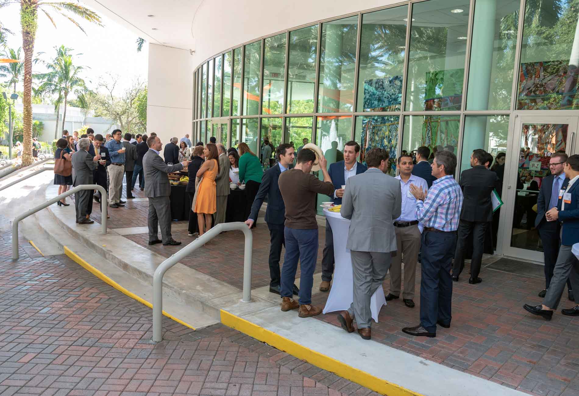
<path id="1" fill-rule="evenodd" d="M 243 252 L 243 302 L 251 302 L 251 261 L 253 248 L 253 234 L 247 226 L 242 222 L 221 223 L 192 243 L 186 245 L 174 255 L 160 263 L 153 275 L 153 341 L 160 342 L 163 340 L 163 276 L 168 269 L 173 267 L 179 260 L 185 258 L 201 245 L 206 244 L 219 233 L 223 231 L 241 230 L 245 236 L 245 247 Z"/>

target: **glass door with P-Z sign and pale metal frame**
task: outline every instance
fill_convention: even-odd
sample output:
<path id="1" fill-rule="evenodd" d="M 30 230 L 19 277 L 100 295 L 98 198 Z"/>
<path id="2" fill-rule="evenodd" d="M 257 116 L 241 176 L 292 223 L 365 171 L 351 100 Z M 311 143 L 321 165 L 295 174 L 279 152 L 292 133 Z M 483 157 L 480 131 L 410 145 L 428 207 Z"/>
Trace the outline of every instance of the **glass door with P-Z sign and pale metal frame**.
<path id="1" fill-rule="evenodd" d="M 577 117 L 517 116 L 504 168 L 504 255 L 543 262 L 543 245 L 535 228 L 537 198 L 551 175 L 549 159 L 557 152 L 577 152 Z"/>

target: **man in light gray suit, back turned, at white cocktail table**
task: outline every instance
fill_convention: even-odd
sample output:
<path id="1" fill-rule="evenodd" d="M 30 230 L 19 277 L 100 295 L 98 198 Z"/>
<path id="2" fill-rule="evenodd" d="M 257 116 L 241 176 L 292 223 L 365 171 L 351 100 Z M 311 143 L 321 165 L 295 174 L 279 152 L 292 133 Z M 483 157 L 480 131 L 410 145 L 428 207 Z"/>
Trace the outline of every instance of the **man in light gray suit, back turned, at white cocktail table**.
<path id="1" fill-rule="evenodd" d="M 382 287 L 390 268 L 391 252 L 396 251 L 393 222 L 402 212 L 400 182 L 386 174 L 388 157 L 383 149 L 368 152 L 368 170 L 346 181 L 340 209 L 342 217 L 351 220 L 346 248 L 352 258 L 354 302 L 347 311 L 338 314 L 338 321 L 351 333 L 356 318 L 358 333 L 365 340 L 371 338 L 370 299 Z"/>

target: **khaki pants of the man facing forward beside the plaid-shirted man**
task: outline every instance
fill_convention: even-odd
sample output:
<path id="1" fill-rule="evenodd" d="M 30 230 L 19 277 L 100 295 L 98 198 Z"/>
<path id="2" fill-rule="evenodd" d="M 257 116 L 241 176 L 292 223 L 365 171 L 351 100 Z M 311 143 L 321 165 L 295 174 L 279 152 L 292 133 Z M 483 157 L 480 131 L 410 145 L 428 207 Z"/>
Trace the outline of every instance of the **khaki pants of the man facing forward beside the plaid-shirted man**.
<path id="1" fill-rule="evenodd" d="M 396 227 L 397 254 L 392 258 L 390 266 L 390 294 L 400 296 L 402 280 L 402 261 L 404 261 L 404 293 L 402 298 L 414 299 L 416 289 L 416 262 L 420 251 L 422 234 L 418 225 Z"/>

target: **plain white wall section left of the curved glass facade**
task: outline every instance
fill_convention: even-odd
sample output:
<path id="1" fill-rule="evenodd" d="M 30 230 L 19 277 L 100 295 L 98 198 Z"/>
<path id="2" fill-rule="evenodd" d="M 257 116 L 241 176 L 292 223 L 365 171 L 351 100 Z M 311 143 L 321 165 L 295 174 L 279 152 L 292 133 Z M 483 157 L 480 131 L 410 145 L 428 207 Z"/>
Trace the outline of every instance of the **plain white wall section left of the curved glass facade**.
<path id="1" fill-rule="evenodd" d="M 166 145 L 171 137 L 191 134 L 193 57 L 188 50 L 149 44 L 147 133 Z"/>

